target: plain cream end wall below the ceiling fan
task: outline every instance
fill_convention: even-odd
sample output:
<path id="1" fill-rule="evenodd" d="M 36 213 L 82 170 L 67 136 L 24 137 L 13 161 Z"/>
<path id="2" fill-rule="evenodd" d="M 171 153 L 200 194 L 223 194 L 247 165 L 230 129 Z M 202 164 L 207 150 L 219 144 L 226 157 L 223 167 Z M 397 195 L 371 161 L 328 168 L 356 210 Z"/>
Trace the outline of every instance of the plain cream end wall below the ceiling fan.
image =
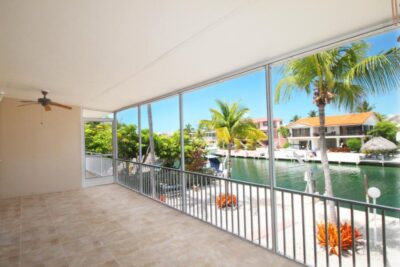
<path id="1" fill-rule="evenodd" d="M 81 111 L 0 103 L 0 198 L 81 187 Z"/>

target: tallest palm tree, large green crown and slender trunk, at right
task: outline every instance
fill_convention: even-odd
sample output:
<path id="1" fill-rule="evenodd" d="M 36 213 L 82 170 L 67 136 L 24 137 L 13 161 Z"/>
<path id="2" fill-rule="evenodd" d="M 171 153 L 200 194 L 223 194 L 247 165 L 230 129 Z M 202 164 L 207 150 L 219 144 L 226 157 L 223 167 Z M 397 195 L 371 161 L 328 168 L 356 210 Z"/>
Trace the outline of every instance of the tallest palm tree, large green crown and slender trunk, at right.
<path id="1" fill-rule="evenodd" d="M 356 42 L 293 60 L 283 70 L 285 77 L 276 87 L 275 102 L 290 99 L 293 91 L 313 93 L 318 107 L 321 163 L 324 170 L 325 194 L 333 196 L 325 138 L 325 107 L 331 102 L 353 110 L 367 94 L 381 94 L 399 87 L 400 55 L 391 48 L 367 56 L 368 45 Z M 329 220 L 336 222 L 335 206 L 329 201 Z"/>

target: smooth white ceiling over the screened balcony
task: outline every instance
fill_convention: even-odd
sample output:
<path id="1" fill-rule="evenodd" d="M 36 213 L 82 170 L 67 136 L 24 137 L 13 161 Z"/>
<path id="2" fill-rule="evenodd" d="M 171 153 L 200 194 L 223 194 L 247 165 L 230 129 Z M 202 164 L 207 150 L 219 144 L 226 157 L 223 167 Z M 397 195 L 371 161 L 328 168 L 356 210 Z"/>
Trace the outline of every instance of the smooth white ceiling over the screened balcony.
<path id="1" fill-rule="evenodd" d="M 111 111 L 390 18 L 390 0 L 1 0 L 0 91 Z"/>

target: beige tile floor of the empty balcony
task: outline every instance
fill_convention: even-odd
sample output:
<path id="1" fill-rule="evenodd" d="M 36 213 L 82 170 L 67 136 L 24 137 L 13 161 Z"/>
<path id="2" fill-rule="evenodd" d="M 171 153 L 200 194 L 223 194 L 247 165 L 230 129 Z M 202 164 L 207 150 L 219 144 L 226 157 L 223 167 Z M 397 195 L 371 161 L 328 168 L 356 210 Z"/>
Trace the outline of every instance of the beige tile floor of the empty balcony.
<path id="1" fill-rule="evenodd" d="M 0 200 L 0 266 L 297 266 L 118 185 Z"/>

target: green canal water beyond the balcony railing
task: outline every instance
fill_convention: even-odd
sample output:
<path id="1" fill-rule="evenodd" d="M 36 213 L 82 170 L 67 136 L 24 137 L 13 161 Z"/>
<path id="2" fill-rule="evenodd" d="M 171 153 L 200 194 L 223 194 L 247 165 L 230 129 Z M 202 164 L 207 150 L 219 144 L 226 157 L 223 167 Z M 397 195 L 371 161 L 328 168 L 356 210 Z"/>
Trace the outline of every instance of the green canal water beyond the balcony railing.
<path id="1" fill-rule="evenodd" d="M 300 165 L 290 161 L 276 161 L 277 185 L 304 192 L 306 182 L 304 172 L 311 168 L 316 178 L 317 191 L 324 192 L 324 175 L 322 165 L 306 163 Z M 368 176 L 369 186 L 378 187 L 381 197 L 377 204 L 400 207 L 400 168 L 367 165 L 330 164 L 335 197 L 365 202 L 364 174 Z M 233 179 L 269 184 L 268 160 L 232 158 Z"/>

